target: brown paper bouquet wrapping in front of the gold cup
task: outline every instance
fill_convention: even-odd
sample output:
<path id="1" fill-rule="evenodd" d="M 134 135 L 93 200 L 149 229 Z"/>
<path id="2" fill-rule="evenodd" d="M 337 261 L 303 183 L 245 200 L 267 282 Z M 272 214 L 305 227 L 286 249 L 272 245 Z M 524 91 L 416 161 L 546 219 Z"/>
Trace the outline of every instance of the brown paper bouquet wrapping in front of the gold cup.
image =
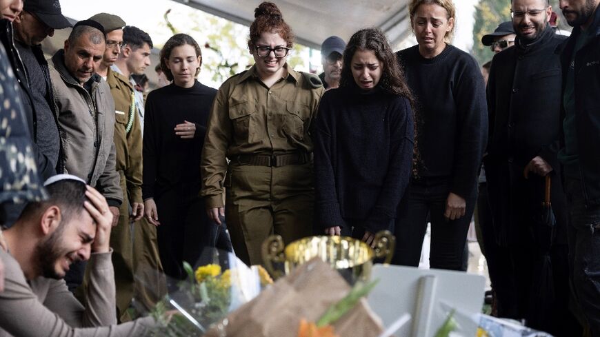
<path id="1" fill-rule="evenodd" d="M 301 318 L 316 321 L 348 292 L 346 280 L 314 258 L 232 312 L 227 318 L 226 336 L 296 337 Z M 381 320 L 364 299 L 334 328 L 341 337 L 376 337 L 383 331 Z M 212 329 L 205 336 L 219 337 L 219 333 Z"/>

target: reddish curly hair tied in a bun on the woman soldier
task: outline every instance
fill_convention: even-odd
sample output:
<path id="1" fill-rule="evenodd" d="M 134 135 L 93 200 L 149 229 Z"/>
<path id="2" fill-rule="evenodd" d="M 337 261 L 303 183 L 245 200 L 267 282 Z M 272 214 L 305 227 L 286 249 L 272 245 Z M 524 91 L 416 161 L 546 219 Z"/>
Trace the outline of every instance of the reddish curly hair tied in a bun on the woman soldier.
<path id="1" fill-rule="evenodd" d="M 292 28 L 283 21 L 283 14 L 277 5 L 268 1 L 264 1 L 254 9 L 254 21 L 250 25 L 250 37 L 248 37 L 248 48 L 251 52 L 254 52 L 254 47 L 263 32 L 277 33 L 286 41 L 288 48 L 294 46 L 296 37 Z"/>

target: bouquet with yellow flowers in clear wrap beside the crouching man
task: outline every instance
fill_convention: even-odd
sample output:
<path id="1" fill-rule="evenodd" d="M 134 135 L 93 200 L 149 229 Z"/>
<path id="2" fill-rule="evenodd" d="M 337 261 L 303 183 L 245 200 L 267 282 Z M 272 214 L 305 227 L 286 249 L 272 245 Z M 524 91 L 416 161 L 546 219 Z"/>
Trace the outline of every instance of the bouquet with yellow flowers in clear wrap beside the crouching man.
<path id="1" fill-rule="evenodd" d="M 225 263 L 201 265 L 195 270 L 183 263 L 188 277 L 150 313 L 159 324 L 149 336 L 200 337 L 212 327 L 221 331 L 227 324 L 221 320 L 228 313 L 273 283 L 263 267 L 247 267 L 233 254 L 226 254 Z"/>

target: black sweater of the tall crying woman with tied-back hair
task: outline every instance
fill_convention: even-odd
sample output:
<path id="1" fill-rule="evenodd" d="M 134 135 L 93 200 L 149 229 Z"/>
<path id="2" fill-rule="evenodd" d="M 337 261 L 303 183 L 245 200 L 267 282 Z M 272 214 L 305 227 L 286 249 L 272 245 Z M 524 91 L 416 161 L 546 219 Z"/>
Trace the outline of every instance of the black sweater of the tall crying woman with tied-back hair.
<path id="1" fill-rule="evenodd" d="M 486 86 L 477 61 L 448 45 L 426 59 L 419 46 L 397 52 L 417 101 L 419 176 L 447 177 L 450 192 L 477 193 L 477 174 L 488 137 Z"/>

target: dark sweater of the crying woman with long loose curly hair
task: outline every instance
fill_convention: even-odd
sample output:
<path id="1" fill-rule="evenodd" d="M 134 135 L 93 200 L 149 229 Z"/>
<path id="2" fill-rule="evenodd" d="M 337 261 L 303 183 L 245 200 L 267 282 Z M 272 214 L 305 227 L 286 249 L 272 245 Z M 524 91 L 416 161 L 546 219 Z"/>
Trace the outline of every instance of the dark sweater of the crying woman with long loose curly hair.
<path id="1" fill-rule="evenodd" d="M 389 229 L 412 167 L 414 125 L 407 99 L 382 90 L 326 92 L 315 125 L 317 225 Z"/>

